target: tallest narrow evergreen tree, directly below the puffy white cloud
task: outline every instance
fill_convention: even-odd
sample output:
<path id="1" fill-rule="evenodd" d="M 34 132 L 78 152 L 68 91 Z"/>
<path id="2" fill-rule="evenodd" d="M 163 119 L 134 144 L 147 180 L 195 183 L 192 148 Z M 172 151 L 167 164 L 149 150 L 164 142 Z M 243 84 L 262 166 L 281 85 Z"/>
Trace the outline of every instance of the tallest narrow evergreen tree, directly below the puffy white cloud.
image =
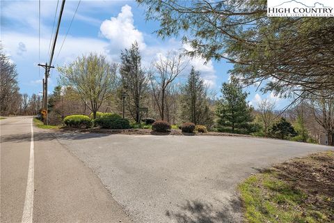
<path id="1" fill-rule="evenodd" d="M 134 120 L 140 123 L 139 108 L 145 92 L 148 91 L 148 77 L 141 69 L 141 55 L 139 54 L 137 42 L 132 44 L 130 49 L 125 49 L 120 59 L 122 60 L 120 77 L 122 86 L 125 88 L 123 90 L 127 92 L 128 109 Z"/>

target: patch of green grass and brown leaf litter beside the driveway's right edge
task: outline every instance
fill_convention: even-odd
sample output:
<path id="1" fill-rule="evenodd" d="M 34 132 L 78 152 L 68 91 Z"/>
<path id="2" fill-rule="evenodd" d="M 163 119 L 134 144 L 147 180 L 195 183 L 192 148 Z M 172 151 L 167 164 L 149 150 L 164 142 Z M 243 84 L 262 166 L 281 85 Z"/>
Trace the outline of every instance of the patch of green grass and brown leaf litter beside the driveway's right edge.
<path id="1" fill-rule="evenodd" d="M 246 222 L 334 222 L 334 153 L 276 165 L 239 185 Z"/>

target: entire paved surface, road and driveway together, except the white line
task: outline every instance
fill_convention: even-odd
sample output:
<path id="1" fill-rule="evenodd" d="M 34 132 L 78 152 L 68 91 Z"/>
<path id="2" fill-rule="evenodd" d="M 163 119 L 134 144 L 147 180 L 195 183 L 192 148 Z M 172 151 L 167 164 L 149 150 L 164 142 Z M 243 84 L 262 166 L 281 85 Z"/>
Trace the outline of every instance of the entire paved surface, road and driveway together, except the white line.
<path id="1" fill-rule="evenodd" d="M 330 149 L 246 137 L 33 131 L 33 222 L 240 222 L 241 180 Z M 1 121 L 1 222 L 22 220 L 30 146 L 31 118 Z"/>

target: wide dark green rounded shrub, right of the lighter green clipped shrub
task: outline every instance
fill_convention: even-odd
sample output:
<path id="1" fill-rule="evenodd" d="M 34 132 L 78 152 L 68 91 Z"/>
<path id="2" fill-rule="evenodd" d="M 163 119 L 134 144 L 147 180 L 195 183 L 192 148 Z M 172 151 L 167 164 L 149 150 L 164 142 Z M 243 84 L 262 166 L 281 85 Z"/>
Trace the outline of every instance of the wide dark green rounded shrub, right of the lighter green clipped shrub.
<path id="1" fill-rule="evenodd" d="M 103 116 L 95 119 L 95 125 L 99 125 L 101 128 L 109 129 L 127 129 L 130 128 L 129 120 L 126 118 L 119 118 L 118 116 Z"/>

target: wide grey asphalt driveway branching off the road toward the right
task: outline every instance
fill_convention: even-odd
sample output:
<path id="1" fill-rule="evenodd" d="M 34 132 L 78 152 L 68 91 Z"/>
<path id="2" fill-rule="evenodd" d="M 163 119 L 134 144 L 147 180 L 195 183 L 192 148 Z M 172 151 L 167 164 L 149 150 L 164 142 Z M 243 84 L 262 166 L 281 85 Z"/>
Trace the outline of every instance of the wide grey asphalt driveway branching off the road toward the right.
<path id="1" fill-rule="evenodd" d="M 80 140 L 77 140 L 80 139 Z M 251 173 L 328 146 L 214 136 L 59 134 L 134 222 L 240 222 Z"/>

